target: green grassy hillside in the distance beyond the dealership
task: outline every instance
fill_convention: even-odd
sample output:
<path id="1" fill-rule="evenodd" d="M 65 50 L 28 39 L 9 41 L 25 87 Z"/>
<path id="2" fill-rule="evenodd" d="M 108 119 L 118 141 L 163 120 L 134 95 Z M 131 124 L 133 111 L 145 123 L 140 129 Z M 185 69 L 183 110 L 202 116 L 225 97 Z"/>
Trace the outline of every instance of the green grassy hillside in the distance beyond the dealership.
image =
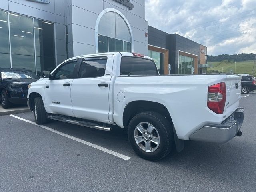
<path id="1" fill-rule="evenodd" d="M 234 61 L 228 61 L 224 60 L 222 62 L 210 62 L 208 61 L 207 64 L 210 64 L 212 68 L 207 68 L 207 73 L 212 72 L 223 72 L 225 73 L 235 73 L 235 62 Z M 253 68 L 254 60 L 250 61 L 240 61 L 236 62 L 236 74 L 252 74 L 252 68 Z"/>

